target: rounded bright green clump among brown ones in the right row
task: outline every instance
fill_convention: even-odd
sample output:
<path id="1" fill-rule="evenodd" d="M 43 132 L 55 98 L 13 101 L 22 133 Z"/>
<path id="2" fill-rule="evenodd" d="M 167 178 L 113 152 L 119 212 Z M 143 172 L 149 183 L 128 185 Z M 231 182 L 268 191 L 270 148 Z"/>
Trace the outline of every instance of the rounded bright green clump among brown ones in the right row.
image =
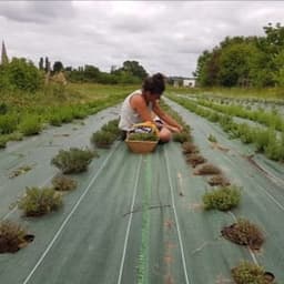
<path id="1" fill-rule="evenodd" d="M 216 209 L 227 211 L 237 206 L 240 203 L 241 189 L 235 185 L 219 186 L 215 190 L 206 192 L 202 200 L 205 210 Z"/>

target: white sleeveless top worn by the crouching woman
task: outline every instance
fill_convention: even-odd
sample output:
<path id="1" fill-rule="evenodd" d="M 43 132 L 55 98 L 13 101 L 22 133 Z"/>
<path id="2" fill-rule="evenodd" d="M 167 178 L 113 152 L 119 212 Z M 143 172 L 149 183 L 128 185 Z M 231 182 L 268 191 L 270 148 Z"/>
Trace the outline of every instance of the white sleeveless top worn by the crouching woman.
<path id="1" fill-rule="evenodd" d="M 143 122 L 140 115 L 130 105 L 130 99 L 132 95 L 142 94 L 142 90 L 136 90 L 126 97 L 121 106 L 119 128 L 124 131 L 130 131 L 135 123 Z M 152 110 L 152 104 L 149 104 L 149 110 Z"/>

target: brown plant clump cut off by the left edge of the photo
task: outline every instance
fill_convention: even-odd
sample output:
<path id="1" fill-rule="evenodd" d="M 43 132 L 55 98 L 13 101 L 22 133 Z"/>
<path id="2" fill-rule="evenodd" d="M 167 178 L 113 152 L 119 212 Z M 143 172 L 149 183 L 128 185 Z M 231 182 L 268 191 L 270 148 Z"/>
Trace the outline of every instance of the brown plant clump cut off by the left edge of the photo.
<path id="1" fill-rule="evenodd" d="M 0 223 L 0 253 L 16 253 L 32 240 L 19 224 L 8 220 Z"/>

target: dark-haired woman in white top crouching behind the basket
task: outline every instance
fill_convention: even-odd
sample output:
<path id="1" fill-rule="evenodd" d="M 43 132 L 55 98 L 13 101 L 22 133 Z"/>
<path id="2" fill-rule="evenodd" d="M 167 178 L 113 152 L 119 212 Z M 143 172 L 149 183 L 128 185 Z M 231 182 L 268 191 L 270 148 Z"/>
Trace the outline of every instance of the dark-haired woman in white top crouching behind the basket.
<path id="1" fill-rule="evenodd" d="M 164 77 L 161 73 L 156 73 L 144 80 L 142 90 L 134 91 L 124 100 L 119 123 L 119 128 L 123 131 L 123 139 L 125 139 L 133 124 L 146 121 L 158 125 L 161 142 L 169 142 L 172 138 L 172 132 L 182 131 L 182 126 L 159 105 L 159 100 L 164 89 Z M 159 116 L 162 123 L 155 122 L 152 112 Z"/>

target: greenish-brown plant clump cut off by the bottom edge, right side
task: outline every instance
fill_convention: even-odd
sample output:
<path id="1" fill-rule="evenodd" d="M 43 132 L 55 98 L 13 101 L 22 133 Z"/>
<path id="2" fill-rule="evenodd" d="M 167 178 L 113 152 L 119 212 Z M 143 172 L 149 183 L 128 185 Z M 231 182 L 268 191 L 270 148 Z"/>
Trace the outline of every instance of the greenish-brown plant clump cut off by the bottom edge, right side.
<path id="1" fill-rule="evenodd" d="M 264 267 L 254 263 L 242 261 L 231 270 L 236 284 L 273 284 L 274 275 L 264 271 Z"/>

